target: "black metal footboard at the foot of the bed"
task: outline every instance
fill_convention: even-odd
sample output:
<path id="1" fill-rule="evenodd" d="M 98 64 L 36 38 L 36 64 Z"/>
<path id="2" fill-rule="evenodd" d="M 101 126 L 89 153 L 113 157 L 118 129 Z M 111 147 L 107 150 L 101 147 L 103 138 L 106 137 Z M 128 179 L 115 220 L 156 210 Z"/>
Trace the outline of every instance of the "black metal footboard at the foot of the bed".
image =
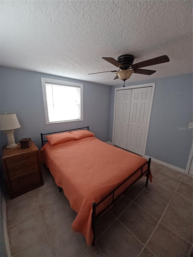
<path id="1" fill-rule="evenodd" d="M 140 168 L 138 168 L 138 170 L 136 170 L 132 175 L 130 175 L 128 178 L 126 178 L 122 183 L 120 183 L 117 187 L 115 187 L 115 189 L 113 189 L 108 195 L 106 195 L 102 200 L 100 200 L 100 202 L 93 202 L 92 204 L 92 208 L 93 208 L 93 212 L 92 212 L 92 229 L 93 229 L 93 242 L 92 242 L 92 246 L 95 245 L 95 224 L 96 224 L 96 219 L 103 214 L 103 212 L 105 212 L 116 200 L 118 200 L 124 193 L 125 191 L 127 191 L 137 180 L 139 180 L 141 177 L 143 177 L 146 173 L 147 173 L 147 179 L 146 179 L 146 184 L 145 186 L 147 186 L 148 184 L 148 179 L 149 179 L 149 173 L 150 173 L 150 163 L 151 163 L 151 158 L 149 158 L 149 160 L 142 165 Z M 147 170 L 145 170 L 143 172 L 143 167 L 147 165 Z M 141 169 L 141 175 L 133 182 L 131 183 L 131 185 L 129 185 L 116 199 L 114 199 L 114 195 L 115 195 L 115 191 L 122 186 L 125 182 L 127 182 L 131 177 L 134 176 L 134 174 L 136 174 L 138 171 L 140 171 Z M 98 213 L 96 215 L 96 207 L 98 205 L 100 205 L 107 197 L 109 197 L 110 195 L 112 195 L 112 202 L 106 206 L 106 208 L 104 208 L 100 213 Z"/>

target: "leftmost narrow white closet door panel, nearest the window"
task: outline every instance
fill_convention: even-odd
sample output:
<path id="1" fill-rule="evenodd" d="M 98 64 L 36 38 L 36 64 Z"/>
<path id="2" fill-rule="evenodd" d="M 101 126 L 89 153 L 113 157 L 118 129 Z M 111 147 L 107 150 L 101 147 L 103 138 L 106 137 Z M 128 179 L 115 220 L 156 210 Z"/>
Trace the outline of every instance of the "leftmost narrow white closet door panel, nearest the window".
<path id="1" fill-rule="evenodd" d="M 116 107 L 115 107 L 115 132 L 114 132 L 115 146 L 120 146 L 122 107 L 123 107 L 123 90 L 118 90 L 116 94 Z"/>

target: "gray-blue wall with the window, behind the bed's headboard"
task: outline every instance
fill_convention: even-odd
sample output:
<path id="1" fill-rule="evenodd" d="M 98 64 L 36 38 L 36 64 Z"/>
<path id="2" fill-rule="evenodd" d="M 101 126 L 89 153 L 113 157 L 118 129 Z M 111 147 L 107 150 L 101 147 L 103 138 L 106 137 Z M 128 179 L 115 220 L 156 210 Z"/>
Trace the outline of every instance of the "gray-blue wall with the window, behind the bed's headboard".
<path id="1" fill-rule="evenodd" d="M 83 84 L 84 121 L 46 125 L 41 77 Z M 8 67 L 0 67 L 0 83 L 0 113 L 16 113 L 21 125 L 14 131 L 16 143 L 31 137 L 40 148 L 40 133 L 85 126 L 89 126 L 89 130 L 100 140 L 108 141 L 110 86 Z M 7 144 L 7 136 L 2 131 L 0 139 L 0 145 Z"/>

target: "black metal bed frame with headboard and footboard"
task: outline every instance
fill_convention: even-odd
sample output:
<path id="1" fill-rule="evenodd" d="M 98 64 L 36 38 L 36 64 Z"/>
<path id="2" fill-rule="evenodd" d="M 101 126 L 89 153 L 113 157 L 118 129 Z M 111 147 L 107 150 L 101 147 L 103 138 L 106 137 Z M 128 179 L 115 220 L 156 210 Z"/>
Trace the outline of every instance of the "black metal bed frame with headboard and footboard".
<path id="1" fill-rule="evenodd" d="M 41 133 L 41 141 L 42 141 L 42 146 L 44 145 L 44 142 L 47 142 L 48 140 L 43 140 L 43 136 L 44 135 L 49 135 L 49 134 L 55 134 L 55 133 L 61 133 L 61 132 L 67 132 L 67 131 L 73 131 L 73 130 L 81 130 L 81 129 L 84 129 L 84 128 L 87 128 L 87 130 L 89 130 L 89 126 L 87 127 L 81 127 L 81 128 L 77 128 L 77 129 L 71 129 L 71 130 L 63 130 L 63 131 L 57 131 L 57 132 L 52 132 L 52 133 Z M 151 158 L 149 158 L 149 160 L 144 164 L 142 165 L 140 168 L 138 168 L 132 175 L 130 175 L 129 177 L 127 177 L 122 183 L 120 183 L 118 186 L 116 186 L 110 193 L 108 193 L 102 200 L 100 200 L 99 202 L 93 202 L 92 203 L 92 209 L 93 209 L 93 212 L 92 212 L 92 229 L 93 229 L 93 242 L 92 242 L 92 246 L 95 245 L 95 226 L 96 226 L 96 219 L 102 215 L 108 208 L 110 208 L 111 205 L 114 204 L 115 201 L 117 201 L 124 193 L 125 191 L 127 191 L 131 186 L 133 186 L 133 184 L 138 181 L 141 177 L 143 177 L 145 174 L 147 176 L 146 178 L 146 183 L 145 183 L 145 186 L 148 185 L 148 179 L 149 179 L 149 173 L 150 173 L 150 163 L 151 163 Z M 143 172 L 143 167 L 147 165 L 147 169 Z M 117 189 L 119 189 L 124 183 L 126 183 L 131 177 L 133 177 L 138 171 L 141 170 L 141 175 L 136 179 L 134 180 L 133 183 L 131 183 L 119 196 L 117 196 L 115 199 L 114 199 L 114 196 L 115 196 L 115 191 Z M 62 191 L 62 188 L 59 186 L 59 192 Z M 109 203 L 109 205 L 107 205 L 101 212 L 99 212 L 97 215 L 96 215 L 96 207 L 98 205 L 100 205 L 105 199 L 107 199 L 110 195 L 112 195 L 112 202 Z"/>

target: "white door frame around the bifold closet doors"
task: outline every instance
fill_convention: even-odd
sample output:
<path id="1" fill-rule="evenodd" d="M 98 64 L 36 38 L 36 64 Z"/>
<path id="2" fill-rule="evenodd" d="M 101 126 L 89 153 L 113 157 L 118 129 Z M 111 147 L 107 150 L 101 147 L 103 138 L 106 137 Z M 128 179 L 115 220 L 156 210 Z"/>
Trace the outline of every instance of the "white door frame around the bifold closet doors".
<path id="1" fill-rule="evenodd" d="M 150 117 L 151 117 L 151 109 L 152 109 L 152 104 L 153 104 L 153 96 L 154 96 L 154 91 L 155 91 L 155 85 L 156 85 L 156 83 L 148 83 L 148 84 L 141 84 L 141 85 L 135 85 L 135 86 L 125 86 L 125 87 L 117 87 L 117 88 L 115 88 L 113 129 L 112 129 L 112 145 L 114 145 L 115 108 L 116 108 L 116 95 L 117 95 L 117 90 L 134 89 L 134 88 L 141 88 L 141 87 L 152 87 L 151 99 L 150 99 L 150 108 L 149 108 L 149 114 L 148 114 L 148 119 L 147 119 L 147 130 L 146 130 L 146 134 L 145 134 L 145 143 L 144 143 L 144 149 L 143 149 L 143 155 L 142 155 L 142 156 L 145 155 L 145 149 L 146 149 L 147 135 L 148 135 L 149 125 L 150 125 Z"/>

